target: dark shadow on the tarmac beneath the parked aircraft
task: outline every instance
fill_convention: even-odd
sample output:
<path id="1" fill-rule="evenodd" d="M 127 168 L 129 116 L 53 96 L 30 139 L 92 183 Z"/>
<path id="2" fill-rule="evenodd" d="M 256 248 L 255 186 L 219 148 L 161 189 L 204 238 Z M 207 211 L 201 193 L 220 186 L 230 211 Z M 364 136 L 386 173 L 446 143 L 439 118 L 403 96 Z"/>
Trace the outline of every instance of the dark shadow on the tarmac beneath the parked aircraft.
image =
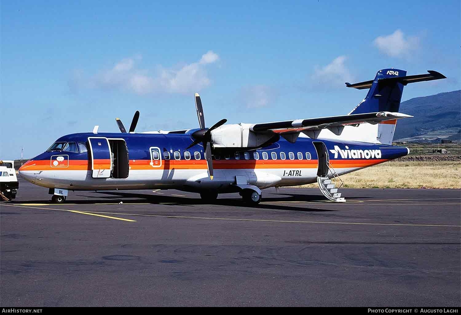
<path id="1" fill-rule="evenodd" d="M 143 194 L 143 193 L 133 193 L 133 192 L 92 192 L 101 194 L 100 196 L 91 196 L 91 195 L 77 195 L 78 197 L 88 198 L 86 200 L 68 200 L 70 204 L 113 204 L 114 202 L 123 201 L 124 204 L 137 204 L 139 202 L 145 202 L 148 204 L 163 204 L 165 206 L 171 205 L 180 205 L 180 206 L 194 206 L 194 205 L 224 205 L 230 207 L 238 208 L 256 208 L 256 209 L 267 209 L 267 210 L 289 210 L 289 211 L 300 211 L 300 212 L 330 212 L 338 211 L 331 209 L 317 209 L 309 207 L 309 204 L 297 204 L 297 206 L 290 206 L 289 204 L 283 204 L 283 202 L 324 202 L 325 205 L 332 205 L 333 203 L 326 202 L 326 199 L 323 196 L 319 195 L 298 195 L 298 194 L 289 194 L 289 193 L 277 193 L 271 194 L 275 196 L 263 198 L 263 203 L 256 206 L 250 206 L 242 201 L 241 198 L 218 198 L 212 203 L 203 201 L 200 198 L 190 198 L 190 197 L 179 197 L 179 196 L 169 196 L 169 195 L 159 195 L 159 194 Z M 106 195 L 106 196 L 103 196 Z M 280 197 L 280 196 L 286 197 Z M 127 198 L 132 198 L 127 200 Z M 136 200 L 137 199 L 137 200 Z M 139 200 L 142 199 L 142 200 Z M 49 200 L 29 200 L 29 201 L 14 201 L 13 203 L 21 204 L 33 204 L 33 203 L 49 203 Z M 267 204 L 266 202 L 271 202 L 274 204 Z M 62 204 L 65 206 L 65 204 Z"/>

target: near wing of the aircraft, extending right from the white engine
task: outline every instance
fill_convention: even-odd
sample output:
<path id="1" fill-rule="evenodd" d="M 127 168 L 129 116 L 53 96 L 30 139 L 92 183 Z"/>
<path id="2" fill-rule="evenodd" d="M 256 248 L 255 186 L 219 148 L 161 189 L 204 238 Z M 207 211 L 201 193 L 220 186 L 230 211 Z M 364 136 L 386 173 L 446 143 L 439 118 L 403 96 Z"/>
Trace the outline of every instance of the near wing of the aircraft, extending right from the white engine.
<path id="1" fill-rule="evenodd" d="M 376 113 L 287 120 L 284 122 L 256 123 L 250 127 L 250 130 L 253 132 L 273 132 L 278 134 L 299 133 L 302 131 L 355 125 L 363 122 L 376 124 L 386 120 L 394 120 L 407 117 L 413 116 L 402 113 L 392 113 L 389 111 L 380 111 Z"/>

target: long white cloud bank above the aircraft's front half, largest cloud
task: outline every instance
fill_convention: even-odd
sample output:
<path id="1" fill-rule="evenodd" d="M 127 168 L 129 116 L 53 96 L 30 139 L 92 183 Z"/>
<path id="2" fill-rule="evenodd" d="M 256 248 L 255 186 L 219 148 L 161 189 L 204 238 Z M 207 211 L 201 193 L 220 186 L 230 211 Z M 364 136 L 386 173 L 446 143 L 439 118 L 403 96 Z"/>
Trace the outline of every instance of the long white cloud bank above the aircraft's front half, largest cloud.
<path id="1" fill-rule="evenodd" d="M 193 93 L 210 85 L 206 67 L 219 60 L 213 51 L 202 55 L 201 59 L 183 66 L 165 68 L 159 66 L 154 74 L 146 69 L 136 67 L 141 57 L 125 58 L 112 69 L 100 71 L 95 76 L 84 80 L 81 72 L 74 77 L 72 85 L 80 87 L 122 89 L 136 94 L 149 93 Z M 78 79 L 78 80 L 76 80 Z M 82 84 L 82 82 L 85 82 Z"/>

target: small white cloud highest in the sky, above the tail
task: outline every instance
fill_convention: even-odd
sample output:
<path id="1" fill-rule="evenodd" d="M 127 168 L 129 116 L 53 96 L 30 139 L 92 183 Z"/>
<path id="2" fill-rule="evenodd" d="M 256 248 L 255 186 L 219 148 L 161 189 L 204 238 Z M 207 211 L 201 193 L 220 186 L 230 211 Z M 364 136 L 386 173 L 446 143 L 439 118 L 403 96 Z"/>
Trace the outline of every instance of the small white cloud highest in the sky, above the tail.
<path id="1" fill-rule="evenodd" d="M 373 43 L 381 52 L 390 57 L 409 58 L 411 53 L 418 49 L 420 38 L 417 36 L 405 37 L 403 32 L 397 29 L 390 35 L 378 36 Z"/>

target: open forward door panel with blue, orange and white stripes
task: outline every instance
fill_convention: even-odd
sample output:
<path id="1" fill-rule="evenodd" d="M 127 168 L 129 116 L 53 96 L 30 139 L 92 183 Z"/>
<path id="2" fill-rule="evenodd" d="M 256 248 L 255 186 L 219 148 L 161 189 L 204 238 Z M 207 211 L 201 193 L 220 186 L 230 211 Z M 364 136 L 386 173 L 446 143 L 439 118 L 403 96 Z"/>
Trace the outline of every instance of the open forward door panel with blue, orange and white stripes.
<path id="1" fill-rule="evenodd" d="M 112 171 L 112 152 L 109 140 L 103 137 L 88 137 L 93 178 L 109 178 Z"/>

